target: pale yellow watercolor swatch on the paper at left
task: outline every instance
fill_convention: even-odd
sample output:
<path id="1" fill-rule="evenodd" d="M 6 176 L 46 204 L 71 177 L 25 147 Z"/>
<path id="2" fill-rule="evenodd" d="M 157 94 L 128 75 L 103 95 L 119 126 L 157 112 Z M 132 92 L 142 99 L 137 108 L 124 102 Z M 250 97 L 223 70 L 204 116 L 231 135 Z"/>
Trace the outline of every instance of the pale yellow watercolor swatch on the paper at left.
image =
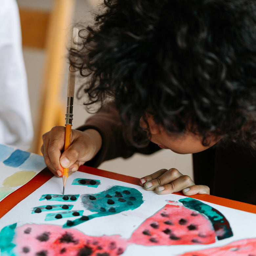
<path id="1" fill-rule="evenodd" d="M 36 172 L 33 171 L 18 171 L 12 174 L 11 176 L 7 177 L 3 181 L 3 186 L 5 187 L 17 187 L 26 184 L 30 181 Z"/>

